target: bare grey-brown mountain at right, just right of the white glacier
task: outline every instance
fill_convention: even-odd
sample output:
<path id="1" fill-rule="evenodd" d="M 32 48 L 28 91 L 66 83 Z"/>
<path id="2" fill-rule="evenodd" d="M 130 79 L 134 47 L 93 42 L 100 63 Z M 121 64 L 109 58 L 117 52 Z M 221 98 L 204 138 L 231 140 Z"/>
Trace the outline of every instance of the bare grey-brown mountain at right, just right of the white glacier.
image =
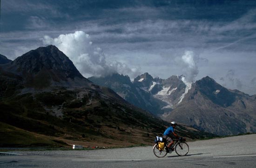
<path id="1" fill-rule="evenodd" d="M 256 95 L 219 85 L 209 76 L 196 81 L 166 117 L 218 135 L 256 132 Z"/>

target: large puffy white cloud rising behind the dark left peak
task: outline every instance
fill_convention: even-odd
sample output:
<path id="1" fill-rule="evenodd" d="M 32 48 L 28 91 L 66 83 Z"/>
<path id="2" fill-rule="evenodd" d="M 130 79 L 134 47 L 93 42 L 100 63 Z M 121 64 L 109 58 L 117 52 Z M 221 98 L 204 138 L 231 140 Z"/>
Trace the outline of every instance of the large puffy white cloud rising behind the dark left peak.
<path id="1" fill-rule="evenodd" d="M 57 38 L 45 35 L 44 45 L 55 45 L 70 60 L 85 77 L 105 76 L 113 73 L 134 74 L 139 69 L 131 69 L 117 60 L 108 63 L 106 54 L 100 47 L 94 47 L 89 34 L 76 31 L 71 34 L 61 34 Z"/>

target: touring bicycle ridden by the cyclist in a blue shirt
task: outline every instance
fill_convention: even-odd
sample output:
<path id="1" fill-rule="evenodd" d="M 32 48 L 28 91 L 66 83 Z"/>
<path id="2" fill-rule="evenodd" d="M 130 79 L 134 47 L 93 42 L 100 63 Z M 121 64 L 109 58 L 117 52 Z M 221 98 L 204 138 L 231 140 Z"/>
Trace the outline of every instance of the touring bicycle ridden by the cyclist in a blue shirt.
<path id="1" fill-rule="evenodd" d="M 173 140 L 174 145 L 172 145 L 172 148 L 175 148 L 175 152 L 177 155 L 179 156 L 185 156 L 189 153 L 189 145 L 185 142 L 186 139 L 185 138 L 179 138 L 176 140 Z M 153 152 L 155 154 L 156 157 L 164 157 L 167 155 L 167 149 L 168 148 L 168 142 L 165 140 L 164 142 L 164 148 L 161 149 L 158 146 L 158 142 L 155 144 L 155 146 L 153 147 Z M 169 149 L 169 153 L 171 153 L 172 150 Z"/>

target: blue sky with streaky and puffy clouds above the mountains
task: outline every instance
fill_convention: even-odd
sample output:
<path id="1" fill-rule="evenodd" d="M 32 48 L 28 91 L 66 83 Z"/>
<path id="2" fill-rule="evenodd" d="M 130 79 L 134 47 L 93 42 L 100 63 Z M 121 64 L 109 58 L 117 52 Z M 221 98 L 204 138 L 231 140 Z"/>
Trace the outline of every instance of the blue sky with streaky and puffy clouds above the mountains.
<path id="1" fill-rule="evenodd" d="M 85 77 L 205 76 L 256 94 L 255 0 L 0 0 L 0 54 L 55 45 Z"/>

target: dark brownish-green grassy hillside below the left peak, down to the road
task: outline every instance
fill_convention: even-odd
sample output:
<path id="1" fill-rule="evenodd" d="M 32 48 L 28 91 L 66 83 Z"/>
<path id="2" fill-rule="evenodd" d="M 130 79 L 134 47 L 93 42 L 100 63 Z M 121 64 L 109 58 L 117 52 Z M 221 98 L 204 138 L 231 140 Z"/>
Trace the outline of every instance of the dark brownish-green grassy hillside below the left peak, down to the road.
<path id="1" fill-rule="evenodd" d="M 168 127 L 167 122 L 115 99 L 104 101 L 99 95 L 79 99 L 80 92 L 58 89 L 3 99 L 0 146 L 151 145 L 155 135 Z M 183 126 L 177 132 L 188 139 L 212 136 Z"/>

